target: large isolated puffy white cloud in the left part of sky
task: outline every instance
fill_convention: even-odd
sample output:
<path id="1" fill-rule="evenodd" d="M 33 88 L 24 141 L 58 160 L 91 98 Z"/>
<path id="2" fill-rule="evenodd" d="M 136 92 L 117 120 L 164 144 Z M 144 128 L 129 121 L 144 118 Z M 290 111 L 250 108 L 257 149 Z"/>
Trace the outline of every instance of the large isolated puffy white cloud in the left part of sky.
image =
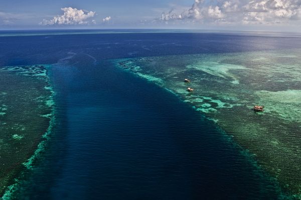
<path id="1" fill-rule="evenodd" d="M 87 19 L 94 17 L 95 12 L 88 12 L 84 10 L 78 10 L 76 8 L 62 8 L 64 14 L 61 16 L 55 16 L 51 20 L 43 20 L 41 25 L 74 25 L 74 24 L 90 24 L 95 21 L 87 21 Z"/>

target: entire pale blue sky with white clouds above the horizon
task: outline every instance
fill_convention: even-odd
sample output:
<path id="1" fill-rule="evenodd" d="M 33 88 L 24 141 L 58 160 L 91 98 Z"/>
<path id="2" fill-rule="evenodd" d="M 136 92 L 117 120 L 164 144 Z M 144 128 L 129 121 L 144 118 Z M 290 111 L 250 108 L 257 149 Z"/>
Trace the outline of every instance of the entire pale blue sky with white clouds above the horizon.
<path id="1" fill-rule="evenodd" d="M 89 28 L 301 32 L 301 0 L 0 0 L 0 30 Z"/>

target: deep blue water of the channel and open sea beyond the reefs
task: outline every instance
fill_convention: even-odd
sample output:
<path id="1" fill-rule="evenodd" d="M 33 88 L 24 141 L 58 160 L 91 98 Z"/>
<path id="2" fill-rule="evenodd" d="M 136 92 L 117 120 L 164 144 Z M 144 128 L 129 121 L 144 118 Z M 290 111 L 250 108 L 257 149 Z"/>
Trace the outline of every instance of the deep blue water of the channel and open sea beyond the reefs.
<path id="1" fill-rule="evenodd" d="M 300 47 L 295 37 L 128 33 L 0 37 L 0 67 L 53 64 L 57 123 L 17 198 L 275 199 L 218 127 L 114 58 Z"/>

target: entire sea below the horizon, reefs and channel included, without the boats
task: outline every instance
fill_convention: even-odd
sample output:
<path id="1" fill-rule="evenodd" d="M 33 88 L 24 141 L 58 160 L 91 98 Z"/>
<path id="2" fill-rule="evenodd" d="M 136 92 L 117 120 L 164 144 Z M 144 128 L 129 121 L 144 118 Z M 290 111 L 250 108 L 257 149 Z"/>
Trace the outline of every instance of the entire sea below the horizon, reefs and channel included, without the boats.
<path id="1" fill-rule="evenodd" d="M 4 199 L 301 197 L 299 34 L 3 31 L 0 46 Z"/>

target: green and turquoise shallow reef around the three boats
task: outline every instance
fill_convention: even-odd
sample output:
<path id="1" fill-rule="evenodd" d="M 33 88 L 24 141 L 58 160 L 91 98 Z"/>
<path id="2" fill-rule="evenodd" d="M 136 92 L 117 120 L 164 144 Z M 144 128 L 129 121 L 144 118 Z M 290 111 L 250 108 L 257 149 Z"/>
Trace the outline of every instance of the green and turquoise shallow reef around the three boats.
<path id="1" fill-rule="evenodd" d="M 301 192 L 300 49 L 114 60 L 233 136 L 283 188 Z M 185 83 L 189 78 L 190 83 Z M 194 88 L 188 92 L 187 88 Z M 254 113 L 254 105 L 264 105 Z"/>

